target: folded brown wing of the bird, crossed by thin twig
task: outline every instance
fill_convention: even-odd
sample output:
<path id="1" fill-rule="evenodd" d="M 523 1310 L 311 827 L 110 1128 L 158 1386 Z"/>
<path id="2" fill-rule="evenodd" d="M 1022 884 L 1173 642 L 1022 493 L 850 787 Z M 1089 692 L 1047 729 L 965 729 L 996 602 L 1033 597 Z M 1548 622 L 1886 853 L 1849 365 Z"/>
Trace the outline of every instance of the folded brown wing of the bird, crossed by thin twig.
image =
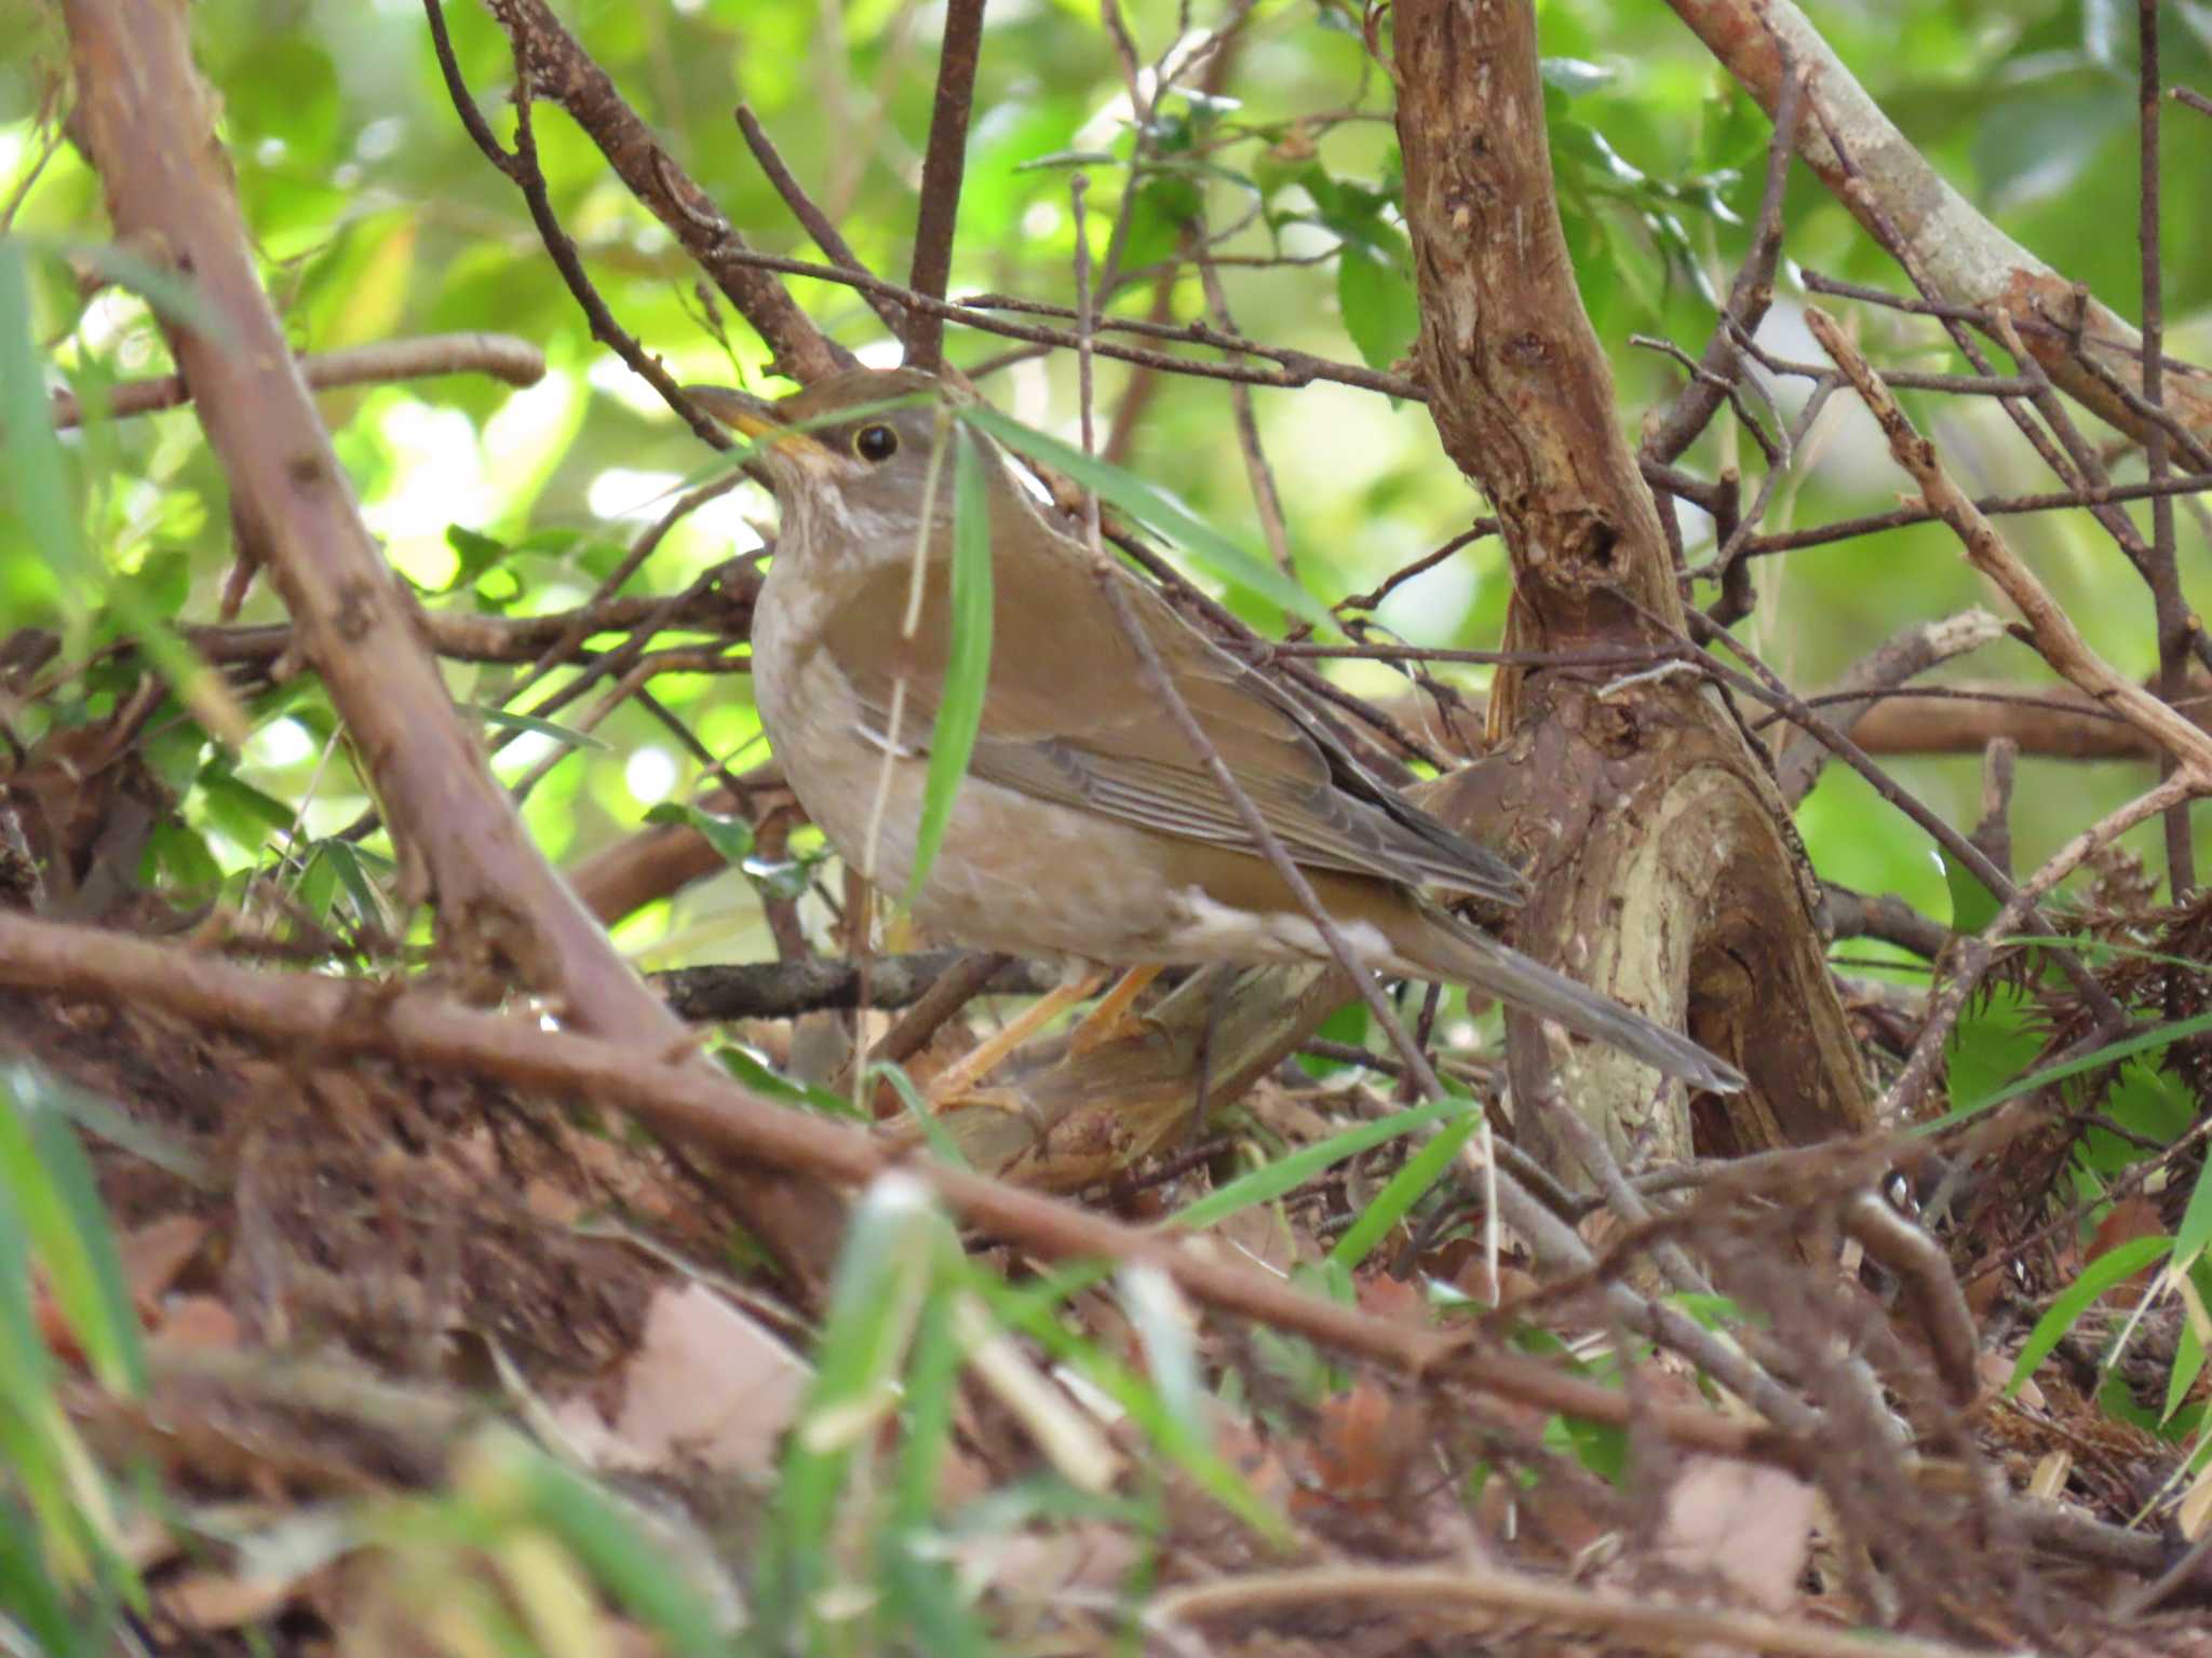
<path id="1" fill-rule="evenodd" d="M 1029 511 L 1013 504 L 1006 511 Z M 993 544 L 1011 544 L 995 526 Z M 1057 533 L 1048 533 L 1057 535 Z M 1037 548 L 1035 537 L 1024 537 Z M 885 736 L 891 694 L 907 681 L 900 747 L 927 747 L 947 668 L 947 581 L 925 584 L 914 639 L 885 650 L 885 617 L 907 601 L 907 573 L 863 577 L 823 632 Z M 1261 818 L 1301 864 L 1409 886 L 1520 902 L 1520 873 L 1376 783 L 1285 692 L 1217 650 L 1135 577 L 1121 577 L 1137 623 L 1214 749 Z M 1256 853 L 1237 807 L 1144 690 L 1124 637 L 1082 550 L 1055 539 L 1009 570 L 993 559 L 991 681 L 973 776 L 1166 836 Z"/>

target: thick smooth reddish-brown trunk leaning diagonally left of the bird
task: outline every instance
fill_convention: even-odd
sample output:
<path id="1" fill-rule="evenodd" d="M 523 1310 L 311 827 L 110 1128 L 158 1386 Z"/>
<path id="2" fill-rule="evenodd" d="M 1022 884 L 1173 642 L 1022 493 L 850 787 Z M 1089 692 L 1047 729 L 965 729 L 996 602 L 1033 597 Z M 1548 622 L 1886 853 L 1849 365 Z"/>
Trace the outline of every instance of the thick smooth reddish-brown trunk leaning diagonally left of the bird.
<path id="1" fill-rule="evenodd" d="M 354 508 L 261 292 L 186 13 L 164 0 L 69 0 L 77 130 L 119 237 L 190 272 L 221 338 L 166 323 L 232 502 L 254 531 L 394 825 L 416 895 L 436 893 L 456 977 L 520 977 L 580 1024 L 648 1050 L 681 1024 L 522 833 L 460 723 L 414 610 Z M 743 1176 L 741 1176 L 743 1178 Z M 748 1216 L 801 1276 L 827 1260 L 836 1211 L 787 1183 Z M 812 1194 L 805 1194 L 812 1196 Z"/>

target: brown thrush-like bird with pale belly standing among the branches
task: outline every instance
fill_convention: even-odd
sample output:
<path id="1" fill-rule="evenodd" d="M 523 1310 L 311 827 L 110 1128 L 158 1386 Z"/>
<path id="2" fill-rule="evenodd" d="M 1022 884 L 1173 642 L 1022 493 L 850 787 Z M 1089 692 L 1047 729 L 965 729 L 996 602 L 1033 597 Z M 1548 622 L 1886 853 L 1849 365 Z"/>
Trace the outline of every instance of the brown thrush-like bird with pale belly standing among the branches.
<path id="1" fill-rule="evenodd" d="M 878 889 L 905 891 L 951 661 L 956 491 L 938 451 L 951 442 L 947 409 L 971 393 L 920 369 L 845 369 L 781 400 L 686 391 L 754 442 L 748 464 L 779 506 L 752 619 L 770 747 L 838 856 Z M 1150 694 L 1119 610 L 1367 968 L 1513 1001 L 1694 1088 L 1745 1085 L 1679 1030 L 1451 913 L 1462 900 L 1511 909 L 1528 884 L 1378 780 L 1152 584 L 1053 522 L 989 438 L 967 429 L 964 440 L 984 447 L 989 679 L 942 847 L 909 895 L 918 924 L 1079 964 L 1329 959 L 1234 800 Z M 1121 584 L 1126 604 L 1102 581 Z"/>

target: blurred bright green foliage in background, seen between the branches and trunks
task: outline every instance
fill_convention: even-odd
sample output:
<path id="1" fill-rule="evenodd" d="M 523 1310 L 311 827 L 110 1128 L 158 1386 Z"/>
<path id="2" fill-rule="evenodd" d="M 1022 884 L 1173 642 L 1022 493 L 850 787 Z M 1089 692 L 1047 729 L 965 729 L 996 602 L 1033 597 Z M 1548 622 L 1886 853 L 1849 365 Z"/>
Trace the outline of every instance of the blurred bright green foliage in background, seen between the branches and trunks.
<path id="1" fill-rule="evenodd" d="M 447 378 L 321 398 L 394 566 L 429 606 L 522 615 L 577 604 L 708 455 L 588 338 L 518 192 L 456 122 L 420 9 L 403 0 L 201 0 L 190 15 L 270 290 L 301 349 L 498 329 L 538 343 L 551 360 L 546 380 L 526 391 Z M 814 256 L 737 133 L 739 102 L 759 113 L 858 254 L 887 276 L 905 276 L 940 7 L 582 0 L 564 4 L 562 15 L 757 245 Z M 2170 7 L 2166 15 L 2168 80 L 2212 84 L 2212 13 Z M 2137 314 L 2132 9 L 2112 0 L 1867 0 L 1818 4 L 1812 18 L 1969 199 L 2059 272 L 2121 314 Z M 1217 15 L 1199 9 L 1186 20 L 1175 4 L 1141 0 L 1128 20 L 1152 60 L 1177 44 L 1186 24 L 1206 29 Z M 1555 0 L 1540 7 L 1540 20 L 1568 237 L 1593 321 L 1613 351 L 1621 418 L 1635 431 L 1674 391 L 1679 369 L 1632 347 L 1630 336 L 1659 334 L 1701 349 L 1714 294 L 1725 290 L 1747 241 L 1767 124 L 1663 7 Z M 456 4 L 451 27 L 478 102 L 507 135 L 513 66 L 504 40 L 476 4 Z M 66 141 L 55 141 L 66 49 L 53 9 L 7 0 L 0 40 L 9 42 L 0 49 L 0 201 L 18 203 L 13 234 L 31 254 L 35 340 L 64 380 L 164 371 L 166 351 L 146 305 L 115 287 L 91 290 L 69 259 L 104 241 L 106 225 L 97 179 Z M 1104 252 L 1110 214 L 1128 188 L 1141 192 L 1128 267 L 1170 254 L 1194 212 L 1217 230 L 1243 223 L 1219 252 L 1252 261 L 1223 267 L 1245 334 L 1343 360 L 1387 365 L 1402 354 L 1411 287 L 1396 228 L 1389 75 L 1363 44 L 1360 15 L 1340 4 L 1263 0 L 1223 93 L 1219 102 L 1161 99 L 1155 159 L 1133 186 L 1130 102 L 1095 7 L 993 0 L 953 292 L 1057 303 L 1073 296 L 1068 179 L 1079 164 L 1093 181 L 1095 250 Z M 761 380 L 759 343 L 726 305 L 710 312 L 697 272 L 593 146 L 555 108 L 540 111 L 538 130 L 555 208 L 615 316 L 679 380 L 774 389 Z M 2205 139 L 2212 128 L 2201 115 L 2170 108 L 2166 292 L 2170 351 L 2185 358 L 2203 358 L 2208 347 Z M 1787 261 L 1898 285 L 1803 170 L 1792 181 L 1787 225 Z M 1265 263 L 1272 254 L 1294 263 Z M 1781 287 L 1767 336 L 1790 356 L 1814 358 L 1794 321 L 1801 290 L 1787 270 Z M 801 281 L 796 294 L 869 360 L 894 360 L 880 325 L 849 292 Z M 1175 281 L 1170 303 L 1179 318 L 1201 314 L 1194 274 Z M 1130 283 L 1115 305 L 1144 314 L 1152 281 Z M 1960 367 L 1922 321 L 1882 312 L 1854 312 L 1854 321 L 1882 363 Z M 964 329 L 949 338 L 953 360 L 971 369 L 1002 358 L 1006 347 Z M 1102 365 L 1106 411 L 1126 374 Z M 1020 360 L 995 367 L 982 387 L 1018 418 L 1073 436 L 1073 363 Z M 1794 396 L 1783 387 L 1785 405 Z M 1971 489 L 2048 486 L 1986 400 L 1909 402 Z M 1418 407 L 1314 385 L 1259 391 L 1256 413 L 1298 575 L 1325 601 L 1371 588 L 1480 511 Z M 13 579 L 0 599 L 9 608 L 0 632 L 58 626 L 82 659 L 115 630 L 119 584 L 135 584 L 164 615 L 212 619 L 232 555 L 230 520 L 192 413 L 104 424 L 66 442 L 86 539 L 111 590 L 64 592 Z M 1756 449 L 1723 422 L 1683 464 L 1712 475 L 1723 464 L 1752 473 L 1756 462 Z M 1128 464 L 1245 546 L 1259 546 L 1223 387 L 1164 382 Z M 2137 478 L 2141 462 L 2121 455 L 2115 471 Z M 1869 422 L 1836 400 L 1783 480 L 1770 528 L 1880 511 L 1900 484 Z M 22 573 L 33 555 L 13 497 L 0 500 L 9 502 L 0 559 Z M 2137 517 L 2148 524 L 2148 513 Z M 743 486 L 670 535 L 630 590 L 672 592 L 752 546 L 754 526 L 768 522 L 768 500 Z M 498 546 L 460 537 L 478 553 L 465 568 L 456 526 Z M 1694 515 L 1686 533 L 1692 557 L 1699 542 L 1710 553 L 1710 533 Z M 2148 592 L 2086 515 L 2008 520 L 2008 535 L 2124 672 L 2154 665 Z M 2205 548 L 2188 513 L 2181 555 L 2194 597 Z M 1767 559 L 1759 590 L 1759 610 L 1739 632 L 1807 692 L 1823 690 L 1900 626 L 1993 604 L 1949 535 L 1931 528 Z M 1701 588 L 1699 597 L 1712 595 Z M 1418 643 L 1491 646 L 1504 601 L 1504 555 L 1486 542 L 1394 595 L 1383 621 Z M 257 586 L 246 619 L 276 615 L 268 586 Z M 1259 610 L 1252 619 L 1274 623 Z M 2013 643 L 1953 672 L 2048 683 L 2031 652 Z M 460 701 L 493 703 L 507 674 L 453 668 L 451 681 Z M 1480 672 L 1444 674 L 1482 685 Z M 1343 676 L 1371 694 L 1402 685 L 1369 663 L 1347 665 Z M 761 758 L 748 747 L 759 727 L 741 676 L 664 679 L 655 690 L 732 767 Z M 111 696 L 88 681 L 88 701 L 73 710 L 20 710 L 29 721 L 20 734 L 35 738 L 46 718 L 97 716 Z M 312 683 L 254 714 L 259 725 L 234 767 L 243 794 L 226 785 L 230 765 L 197 727 L 164 727 L 164 778 L 184 791 L 186 818 L 208 858 L 197 862 L 192 849 L 168 847 L 168 878 L 234 882 L 265 867 L 270 814 L 257 816 L 250 791 L 292 811 L 303 807 L 310 836 L 327 836 L 363 809 L 343 749 L 325 760 L 332 723 Z M 604 749 L 575 752 L 529 800 L 529 825 L 557 860 L 608 844 L 653 805 L 681 800 L 699 783 L 701 767 L 637 710 L 622 710 L 599 736 Z M 546 741 L 511 743 L 498 760 L 502 776 L 533 765 Z M 1978 772 L 1973 756 L 1898 763 L 1913 789 L 1962 825 L 1978 811 Z M 2139 765 L 2026 760 L 2015 816 L 2022 864 L 2143 780 Z M 1840 767 L 1805 805 L 1801 825 L 1823 875 L 1898 891 L 1949 915 L 1927 840 Z M 2130 844 L 2154 862 L 2154 838 L 2152 825 Z M 619 940 L 650 964 L 768 953 L 754 900 L 734 873 L 633 917 Z"/>

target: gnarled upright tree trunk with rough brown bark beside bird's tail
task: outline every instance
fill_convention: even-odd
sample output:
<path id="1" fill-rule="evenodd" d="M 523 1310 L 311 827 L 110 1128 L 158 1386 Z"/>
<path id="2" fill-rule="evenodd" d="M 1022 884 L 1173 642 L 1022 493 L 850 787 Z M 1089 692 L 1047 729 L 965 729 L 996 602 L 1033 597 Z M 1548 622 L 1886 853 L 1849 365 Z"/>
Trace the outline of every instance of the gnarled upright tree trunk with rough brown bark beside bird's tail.
<path id="1" fill-rule="evenodd" d="M 1400 0 L 1398 139 L 1438 436 L 1495 502 L 1513 557 L 1509 650 L 1650 641 L 1681 626 L 1657 511 L 1559 232 L 1528 0 Z M 1752 1096 L 1701 1116 L 1705 1150 L 1867 1127 L 1871 1096 L 1827 979 L 1781 798 L 1719 696 L 1652 679 L 1504 672 L 1504 745 L 1436 805 L 1528 860 L 1517 944 L 1736 1059 Z M 1546 1110 L 1617 1152 L 1683 1156 L 1679 1094 L 1513 1021 L 1524 1145 L 1564 1178 Z"/>

